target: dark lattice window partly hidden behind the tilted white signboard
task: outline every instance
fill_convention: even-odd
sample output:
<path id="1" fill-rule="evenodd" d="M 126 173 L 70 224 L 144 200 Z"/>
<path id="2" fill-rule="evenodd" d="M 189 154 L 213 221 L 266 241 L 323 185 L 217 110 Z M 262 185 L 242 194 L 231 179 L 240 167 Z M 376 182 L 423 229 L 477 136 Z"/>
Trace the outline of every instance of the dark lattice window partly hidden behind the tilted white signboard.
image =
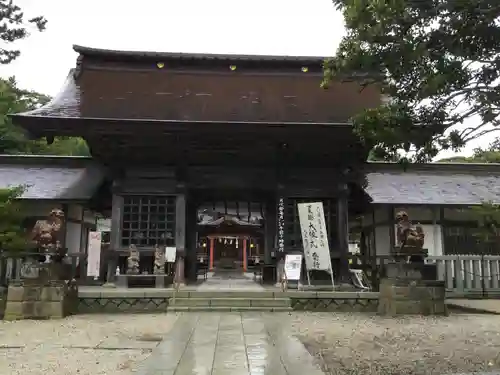
<path id="1" fill-rule="evenodd" d="M 302 248 L 302 235 L 300 231 L 299 211 L 297 203 L 323 202 L 325 212 L 326 230 L 330 247 L 335 247 L 337 242 L 337 210 L 335 199 L 303 199 L 287 198 L 285 200 L 285 247 Z"/>

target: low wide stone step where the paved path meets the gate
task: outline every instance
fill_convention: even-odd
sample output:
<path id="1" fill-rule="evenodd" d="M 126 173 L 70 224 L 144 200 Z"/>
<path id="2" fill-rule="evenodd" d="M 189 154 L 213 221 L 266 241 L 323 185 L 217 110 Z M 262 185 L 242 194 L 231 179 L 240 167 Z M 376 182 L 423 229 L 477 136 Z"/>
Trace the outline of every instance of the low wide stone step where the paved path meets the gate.
<path id="1" fill-rule="evenodd" d="M 170 298 L 169 306 L 290 307 L 290 298 Z"/>

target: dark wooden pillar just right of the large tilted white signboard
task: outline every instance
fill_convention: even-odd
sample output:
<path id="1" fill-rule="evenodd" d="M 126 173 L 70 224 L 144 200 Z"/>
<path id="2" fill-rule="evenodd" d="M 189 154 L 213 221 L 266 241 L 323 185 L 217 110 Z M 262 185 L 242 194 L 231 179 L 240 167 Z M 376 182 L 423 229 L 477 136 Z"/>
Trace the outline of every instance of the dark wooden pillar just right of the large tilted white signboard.
<path id="1" fill-rule="evenodd" d="M 339 185 L 337 199 L 337 238 L 340 251 L 340 274 L 339 282 L 348 283 L 349 276 L 349 211 L 348 211 L 349 187 L 347 184 Z"/>

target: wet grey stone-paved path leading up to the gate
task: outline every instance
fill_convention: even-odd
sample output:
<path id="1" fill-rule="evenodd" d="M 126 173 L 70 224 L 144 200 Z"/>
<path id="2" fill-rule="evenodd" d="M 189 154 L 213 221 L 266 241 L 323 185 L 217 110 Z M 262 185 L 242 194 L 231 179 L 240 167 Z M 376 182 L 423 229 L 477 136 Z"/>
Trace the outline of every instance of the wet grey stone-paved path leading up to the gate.
<path id="1" fill-rule="evenodd" d="M 139 375 L 323 375 L 269 314 L 185 313 Z"/>

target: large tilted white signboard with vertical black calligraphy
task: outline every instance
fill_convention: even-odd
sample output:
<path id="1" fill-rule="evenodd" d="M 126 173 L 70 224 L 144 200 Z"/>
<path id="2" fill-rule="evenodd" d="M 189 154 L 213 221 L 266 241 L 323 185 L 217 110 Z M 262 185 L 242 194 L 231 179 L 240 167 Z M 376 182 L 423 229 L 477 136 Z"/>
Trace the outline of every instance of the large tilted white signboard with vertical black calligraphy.
<path id="1" fill-rule="evenodd" d="M 332 273 L 323 203 L 298 203 L 298 210 L 307 270 Z"/>

